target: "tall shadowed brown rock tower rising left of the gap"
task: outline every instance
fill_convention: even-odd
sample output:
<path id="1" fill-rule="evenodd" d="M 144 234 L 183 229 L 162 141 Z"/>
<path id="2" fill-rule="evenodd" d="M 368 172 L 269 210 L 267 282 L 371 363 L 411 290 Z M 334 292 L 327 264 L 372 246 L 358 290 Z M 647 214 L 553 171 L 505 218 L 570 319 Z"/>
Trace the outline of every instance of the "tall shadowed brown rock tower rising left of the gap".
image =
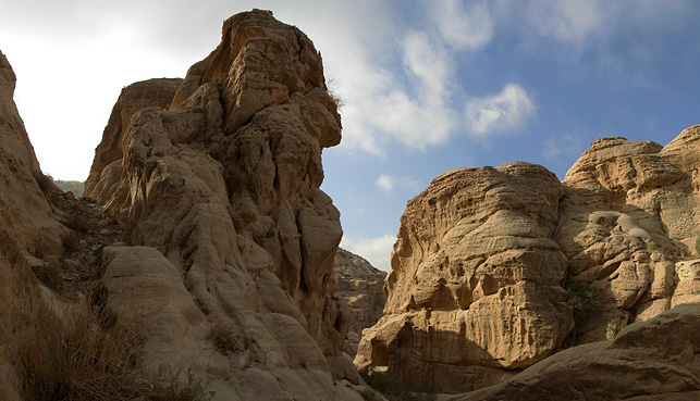
<path id="1" fill-rule="evenodd" d="M 345 387 L 358 376 L 329 290 L 342 229 L 319 189 L 321 150 L 341 122 L 318 51 L 255 10 L 174 83 L 137 84 L 155 106 L 122 108 L 128 125 L 106 129 L 89 192 L 127 226 L 130 247 L 105 250 L 105 281 L 113 308 L 149 325 L 144 363 L 193 369 L 217 400 L 361 399 Z"/>

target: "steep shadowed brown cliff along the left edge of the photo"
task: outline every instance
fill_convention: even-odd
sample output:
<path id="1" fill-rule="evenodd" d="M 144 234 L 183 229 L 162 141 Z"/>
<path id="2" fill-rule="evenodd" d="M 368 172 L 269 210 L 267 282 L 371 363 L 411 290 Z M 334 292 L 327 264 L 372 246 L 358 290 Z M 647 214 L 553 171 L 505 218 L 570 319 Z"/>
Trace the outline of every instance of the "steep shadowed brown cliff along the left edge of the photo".
<path id="1" fill-rule="evenodd" d="M 0 52 L 0 388 L 10 401 L 24 390 L 22 340 L 40 324 L 41 292 L 27 260 L 62 253 L 69 231 L 49 203 L 60 190 L 41 174 L 13 100 L 15 79 Z"/>

